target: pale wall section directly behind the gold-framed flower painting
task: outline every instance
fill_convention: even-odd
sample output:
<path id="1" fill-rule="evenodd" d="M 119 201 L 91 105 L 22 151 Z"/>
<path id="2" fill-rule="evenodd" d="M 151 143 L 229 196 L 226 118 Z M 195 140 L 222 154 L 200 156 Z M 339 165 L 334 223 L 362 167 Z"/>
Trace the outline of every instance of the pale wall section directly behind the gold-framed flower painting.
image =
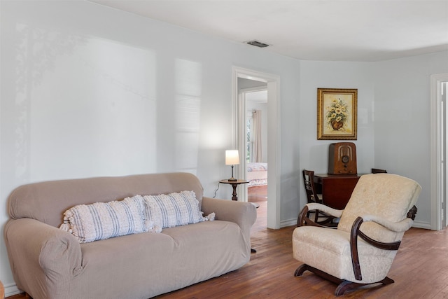
<path id="1" fill-rule="evenodd" d="M 317 140 L 317 88 L 358 89 L 358 139 L 356 144 L 358 173 L 365 174 L 374 167 L 374 81 L 371 62 L 313 62 L 300 63 L 300 167 L 328 172 L 328 145 L 335 140 Z M 300 169 L 300 170 L 301 170 Z M 300 174 L 302 179 L 302 174 Z M 300 185 L 304 193 L 303 183 Z M 306 203 L 306 197 L 302 204 Z"/>

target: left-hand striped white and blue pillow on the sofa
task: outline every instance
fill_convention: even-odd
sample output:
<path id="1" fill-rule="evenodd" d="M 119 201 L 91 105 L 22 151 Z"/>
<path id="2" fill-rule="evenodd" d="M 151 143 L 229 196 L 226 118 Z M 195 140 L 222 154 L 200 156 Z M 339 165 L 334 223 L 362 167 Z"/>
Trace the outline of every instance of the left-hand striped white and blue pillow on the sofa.
<path id="1" fill-rule="evenodd" d="M 71 232 L 80 243 L 148 231 L 142 197 L 79 204 L 64 213 L 62 230 Z"/>

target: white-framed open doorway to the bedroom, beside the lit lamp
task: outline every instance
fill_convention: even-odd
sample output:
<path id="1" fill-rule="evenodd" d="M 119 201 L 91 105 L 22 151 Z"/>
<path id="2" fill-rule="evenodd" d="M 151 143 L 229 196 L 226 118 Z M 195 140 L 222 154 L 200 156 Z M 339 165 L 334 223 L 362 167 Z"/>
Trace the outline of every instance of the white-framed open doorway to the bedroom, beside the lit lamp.
<path id="1" fill-rule="evenodd" d="M 232 106 L 233 106 L 233 118 L 235 120 L 235 127 L 234 127 L 234 137 L 235 137 L 235 148 L 239 150 L 240 156 L 241 153 L 244 153 L 244 155 L 248 155 L 245 159 L 240 159 L 240 165 L 237 167 L 237 175 L 240 178 L 246 179 L 248 181 L 248 160 L 250 161 L 251 156 L 253 155 L 253 151 L 255 150 L 255 146 L 251 144 L 251 141 L 253 141 L 253 136 L 255 136 L 255 132 L 251 130 L 251 136 L 248 136 L 248 125 L 251 125 L 250 120 L 248 119 L 253 118 L 255 110 L 260 110 L 260 104 L 261 103 L 254 103 L 254 106 L 246 109 L 246 105 L 250 106 L 250 101 L 246 101 L 245 95 L 247 94 L 252 96 L 260 96 L 262 93 L 265 93 L 267 95 L 267 100 L 263 101 L 261 106 L 266 106 L 266 112 L 265 112 L 265 132 L 262 132 L 262 128 L 260 131 L 261 134 L 265 134 L 265 137 L 262 137 L 265 139 L 265 149 L 263 150 L 263 146 L 260 146 L 258 148 L 261 148 L 261 153 L 258 153 L 257 155 L 260 155 L 260 159 L 262 162 L 266 163 L 266 166 L 269 165 L 267 168 L 267 184 L 260 188 L 265 190 L 260 190 L 257 197 L 262 198 L 262 202 L 265 202 L 266 209 L 263 210 L 263 207 L 259 207 L 257 209 L 257 215 L 258 220 L 263 221 L 264 228 L 280 228 L 280 183 L 279 183 L 279 172 L 280 172 L 280 127 L 278 125 L 279 120 L 279 76 L 276 76 L 274 74 L 266 74 L 259 71 L 253 71 L 250 69 L 241 69 L 237 67 L 233 67 L 232 69 L 232 76 L 233 76 L 233 100 L 232 100 Z M 252 85 L 246 85 L 252 84 Z M 255 84 L 255 85 L 253 85 Z M 259 93 L 257 94 L 257 91 Z M 244 100 L 243 100 L 244 99 Z M 266 102 L 267 101 L 267 102 Z M 246 103 L 247 102 L 247 103 Z M 254 101 L 255 102 L 255 101 Z M 258 101 L 262 102 L 262 101 Z M 261 112 L 260 115 L 263 118 L 263 113 Z M 263 120 L 261 120 L 261 126 L 263 123 Z M 252 120 L 252 126 L 253 126 L 253 120 Z M 248 142 L 249 140 L 249 142 Z M 255 142 L 255 141 L 254 141 Z M 262 141 L 261 141 L 262 143 Z M 248 151 L 251 151 L 252 153 L 248 153 Z M 263 161 L 263 159 L 265 159 Z M 244 186 L 240 185 L 240 189 L 238 194 L 241 194 L 241 197 L 238 196 L 238 200 L 241 201 L 248 201 L 248 183 L 244 184 Z M 265 195 L 267 189 L 267 195 Z M 253 192 L 252 192 L 253 191 Z M 251 190 L 251 193 L 254 194 L 257 192 L 256 190 Z M 267 196 L 267 198 L 266 198 Z M 258 200 L 256 198 L 255 200 Z M 252 200 L 251 200 L 252 201 Z M 258 223 L 255 223 L 255 227 L 258 227 Z"/>

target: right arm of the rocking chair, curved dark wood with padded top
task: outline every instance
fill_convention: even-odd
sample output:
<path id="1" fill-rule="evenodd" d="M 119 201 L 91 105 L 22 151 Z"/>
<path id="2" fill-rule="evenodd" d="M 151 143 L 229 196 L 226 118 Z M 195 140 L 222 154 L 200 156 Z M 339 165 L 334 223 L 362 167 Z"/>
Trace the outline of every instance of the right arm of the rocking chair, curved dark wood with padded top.
<path id="1" fill-rule="evenodd" d="M 415 206 L 412 207 L 412 209 L 410 209 L 409 212 L 407 213 L 408 218 L 398 223 L 386 221 L 381 217 L 375 217 L 375 216 L 364 216 L 356 218 L 356 220 L 353 222 L 353 226 L 351 227 L 351 233 L 350 233 L 351 263 L 353 265 L 353 272 L 355 274 L 356 279 L 358 280 L 363 279 L 359 265 L 358 237 L 361 237 L 365 242 L 369 243 L 370 245 L 384 250 L 398 250 L 401 244 L 401 241 L 385 243 L 372 239 L 360 231 L 361 224 L 363 224 L 364 221 L 374 221 L 375 223 L 378 223 L 379 225 L 382 225 L 384 226 L 384 228 L 387 228 L 388 230 L 391 230 L 393 232 L 405 232 L 411 227 L 413 219 L 415 218 L 416 211 L 417 208 Z"/>

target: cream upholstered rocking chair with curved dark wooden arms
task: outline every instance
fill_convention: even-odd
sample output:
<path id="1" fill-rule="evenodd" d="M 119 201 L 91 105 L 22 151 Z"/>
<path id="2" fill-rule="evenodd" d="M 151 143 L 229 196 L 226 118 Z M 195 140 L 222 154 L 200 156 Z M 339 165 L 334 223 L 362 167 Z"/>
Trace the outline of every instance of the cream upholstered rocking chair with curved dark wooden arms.
<path id="1" fill-rule="evenodd" d="M 419 183 L 404 176 L 365 174 L 344 210 L 307 204 L 293 232 L 294 258 L 304 263 L 295 276 L 308 270 L 335 282 L 335 295 L 367 284 L 393 283 L 386 275 L 413 223 L 420 191 Z M 311 221 L 307 214 L 313 209 L 340 217 L 337 229 Z"/>

